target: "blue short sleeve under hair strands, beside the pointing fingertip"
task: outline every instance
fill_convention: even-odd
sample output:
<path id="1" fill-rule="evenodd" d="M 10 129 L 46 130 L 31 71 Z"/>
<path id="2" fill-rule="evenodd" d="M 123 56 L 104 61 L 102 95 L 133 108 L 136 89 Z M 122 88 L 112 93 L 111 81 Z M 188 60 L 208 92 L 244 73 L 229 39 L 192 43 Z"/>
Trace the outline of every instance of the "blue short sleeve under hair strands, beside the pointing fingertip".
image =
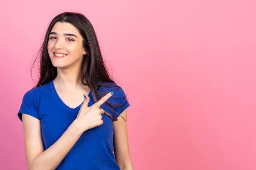
<path id="1" fill-rule="evenodd" d="M 126 97 L 125 97 L 125 93 L 123 91 L 123 89 L 120 87 L 114 94 L 113 94 L 112 100 L 115 104 L 120 105 L 121 107 L 114 107 L 114 110 L 118 113 L 113 113 L 113 116 L 115 118 L 119 117 L 119 115 L 130 106 L 129 102 L 127 101 Z M 124 105 L 124 106 L 122 106 Z"/>

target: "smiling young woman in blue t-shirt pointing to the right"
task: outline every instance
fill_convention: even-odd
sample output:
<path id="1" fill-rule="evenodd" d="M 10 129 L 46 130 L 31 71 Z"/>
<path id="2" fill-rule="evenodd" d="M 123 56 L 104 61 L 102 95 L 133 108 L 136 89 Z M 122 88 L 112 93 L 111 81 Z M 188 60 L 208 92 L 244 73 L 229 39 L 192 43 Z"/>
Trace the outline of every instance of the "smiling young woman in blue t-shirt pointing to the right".
<path id="1" fill-rule="evenodd" d="M 40 78 L 18 112 L 29 170 L 132 170 L 130 104 L 109 77 L 90 21 L 57 15 L 40 51 Z"/>

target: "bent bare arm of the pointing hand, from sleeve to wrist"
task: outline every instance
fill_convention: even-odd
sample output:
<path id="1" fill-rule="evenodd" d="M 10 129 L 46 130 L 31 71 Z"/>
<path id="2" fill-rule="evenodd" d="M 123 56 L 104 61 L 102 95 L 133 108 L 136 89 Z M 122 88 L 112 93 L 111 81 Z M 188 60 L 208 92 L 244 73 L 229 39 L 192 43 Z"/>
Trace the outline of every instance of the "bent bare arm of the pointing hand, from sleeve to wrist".
<path id="1" fill-rule="evenodd" d="M 22 114 L 22 120 L 29 170 L 54 170 L 83 134 L 75 120 L 51 147 L 43 151 L 40 121 L 27 114 Z"/>

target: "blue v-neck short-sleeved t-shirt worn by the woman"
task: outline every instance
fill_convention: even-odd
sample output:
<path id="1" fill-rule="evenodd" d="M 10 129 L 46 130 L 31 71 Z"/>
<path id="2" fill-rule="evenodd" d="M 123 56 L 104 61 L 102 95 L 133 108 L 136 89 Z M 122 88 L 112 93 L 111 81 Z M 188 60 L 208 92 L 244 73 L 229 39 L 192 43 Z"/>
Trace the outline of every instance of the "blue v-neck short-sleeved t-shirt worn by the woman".
<path id="1" fill-rule="evenodd" d="M 110 90 L 110 87 L 99 88 L 100 92 Z M 114 88 L 112 90 L 115 90 Z M 83 94 L 81 94 L 83 95 Z M 88 95 L 88 107 L 94 104 L 91 92 Z M 119 88 L 113 96 L 124 97 L 124 91 Z M 108 101 L 124 104 L 121 108 L 112 108 L 121 114 L 130 104 L 124 99 L 110 97 Z M 99 100 L 99 99 L 98 99 Z M 76 108 L 67 106 L 58 96 L 53 80 L 27 91 L 22 99 L 18 117 L 22 121 L 22 113 L 31 115 L 41 122 L 44 150 L 52 146 L 76 119 L 82 103 Z M 118 117 L 105 104 L 101 108 L 107 113 Z M 67 153 L 56 170 L 120 170 L 116 163 L 113 146 L 112 117 L 101 114 L 103 124 L 83 132 L 76 144 Z M 119 117 L 118 119 L 123 119 Z"/>

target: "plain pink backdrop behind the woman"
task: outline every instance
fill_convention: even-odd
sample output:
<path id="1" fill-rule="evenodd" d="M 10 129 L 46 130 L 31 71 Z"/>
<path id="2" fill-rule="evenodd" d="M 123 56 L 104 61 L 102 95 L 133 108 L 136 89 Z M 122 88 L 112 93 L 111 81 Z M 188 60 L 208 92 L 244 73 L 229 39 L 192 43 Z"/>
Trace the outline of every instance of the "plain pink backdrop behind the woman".
<path id="1" fill-rule="evenodd" d="M 47 26 L 65 11 L 92 22 L 127 94 L 134 170 L 256 169 L 254 0 L 1 2 L 1 169 L 27 169 L 17 112 Z"/>

